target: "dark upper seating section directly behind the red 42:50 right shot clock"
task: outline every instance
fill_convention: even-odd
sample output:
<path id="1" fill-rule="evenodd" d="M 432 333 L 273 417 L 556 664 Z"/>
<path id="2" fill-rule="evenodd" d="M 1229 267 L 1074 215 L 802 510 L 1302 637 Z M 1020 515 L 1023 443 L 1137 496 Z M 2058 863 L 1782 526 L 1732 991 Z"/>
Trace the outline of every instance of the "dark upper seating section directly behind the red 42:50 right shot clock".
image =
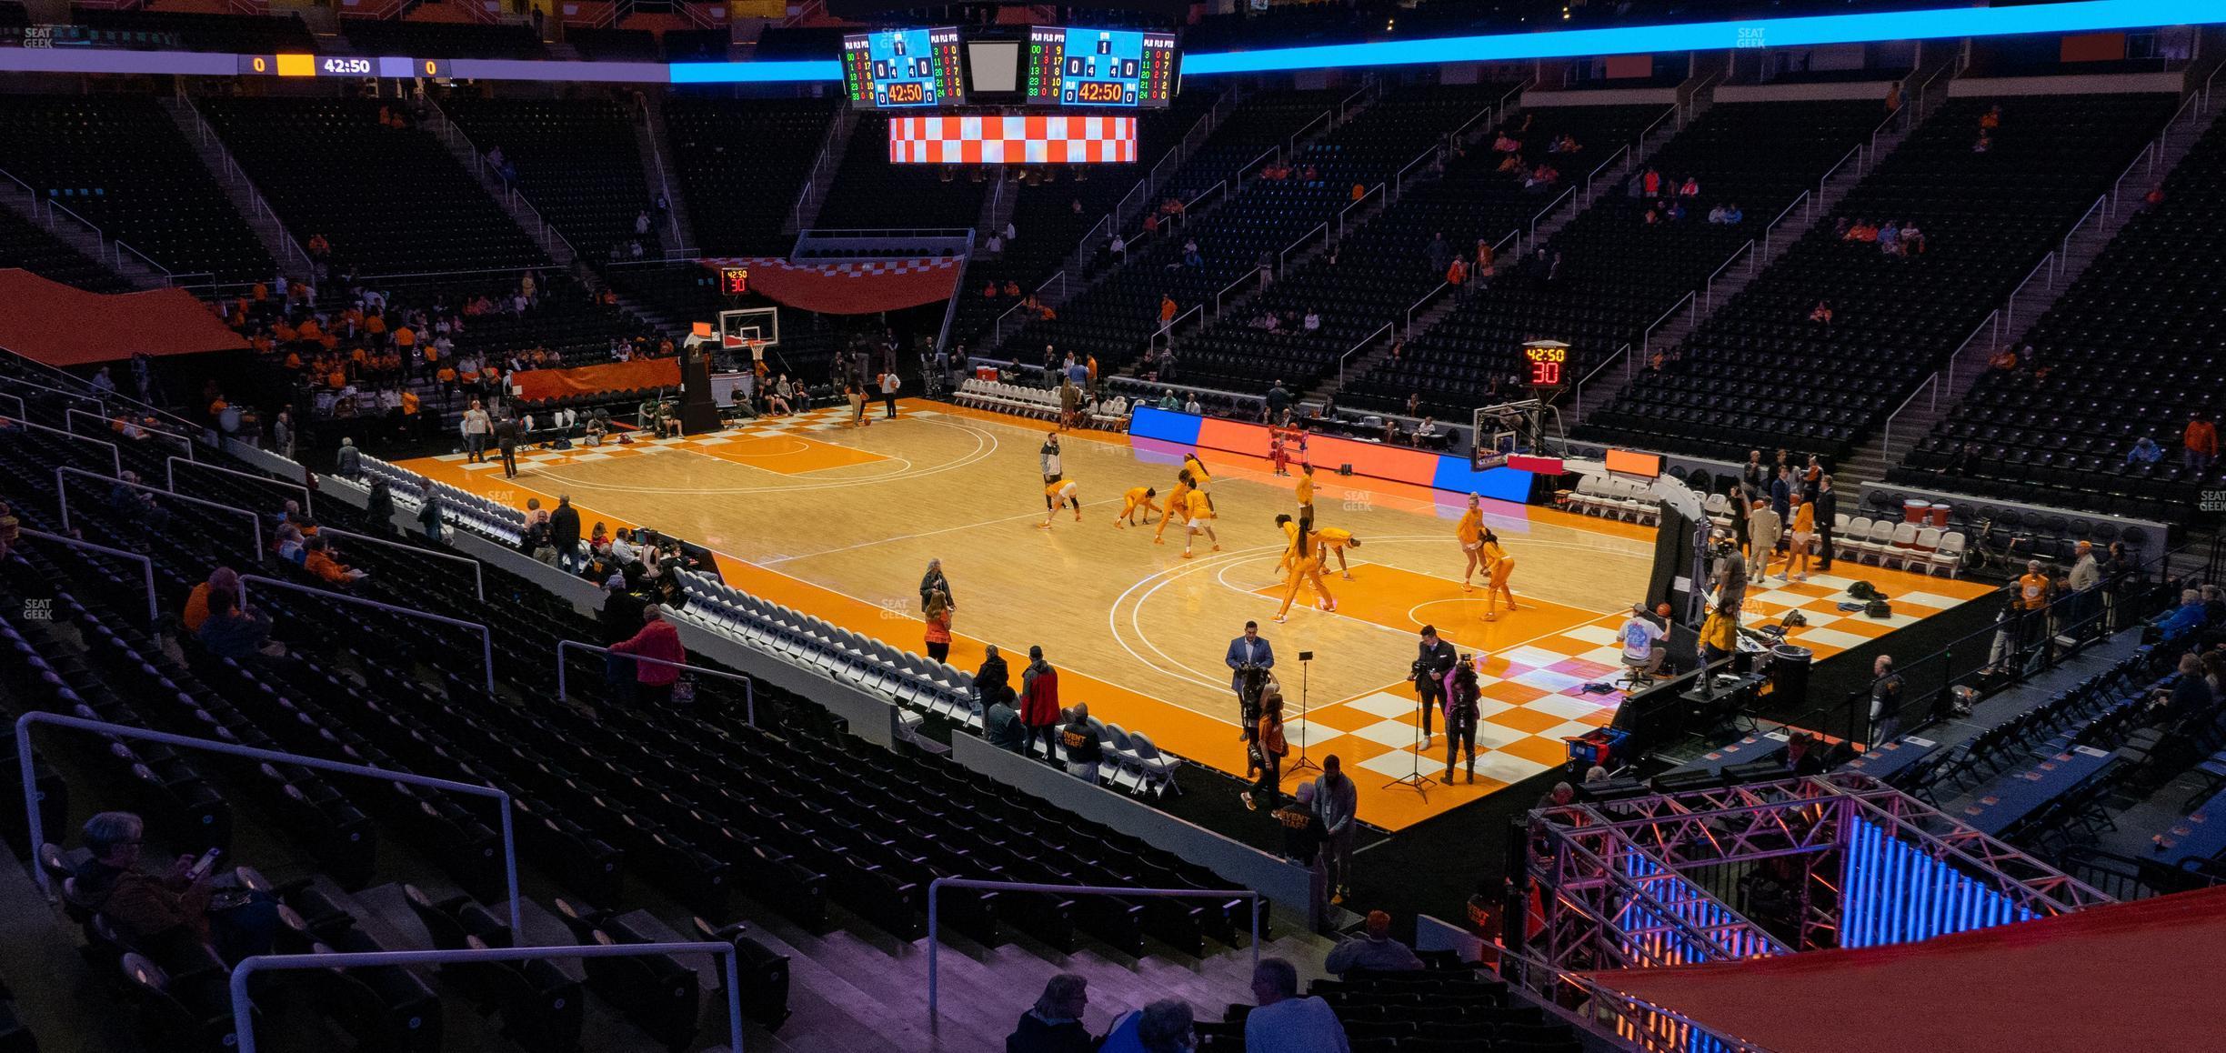
<path id="1" fill-rule="evenodd" d="M 1596 109 L 1596 107 L 1585 107 Z M 1560 120 L 1583 120 L 1540 109 L 1523 142 L 1531 160 L 1549 142 Z M 1661 116 L 1661 107 L 1607 107 L 1592 118 L 1594 142 L 1576 127 L 1578 145 L 1598 145 L 1594 156 L 1629 142 Z M 1540 281 L 1536 249 L 1529 260 L 1498 260 L 1491 287 L 1414 341 L 1400 361 L 1387 361 L 1360 383 L 1347 385 L 1342 401 L 1362 410 L 1405 410 L 1420 394 L 1420 412 L 1456 419 L 1505 394 L 1505 381 L 1520 370 L 1525 341 L 1572 345 L 1574 374 L 1583 376 L 1616 347 L 1641 341 L 1681 296 L 1707 281 L 1750 238 L 1759 238 L 1787 203 L 1814 187 L 1836 160 L 1877 125 L 1874 102 L 1750 102 L 1721 105 L 1665 142 L 1625 187 L 1607 189 L 1585 214 L 1545 245 Z M 1543 136 L 1540 136 L 1543 131 Z M 1754 142 L 1772 149 L 1756 151 Z M 1567 165 L 1572 171 L 1592 163 Z M 1656 194 L 1647 196 L 1647 174 Z M 1685 178 L 1698 194 L 1678 196 Z M 1580 174 L 1578 174 L 1580 178 Z M 1665 205 L 1681 205 L 1672 220 Z M 1739 207 L 1741 223 L 1710 223 L 1716 207 Z M 1647 214 L 1654 223 L 1647 223 Z M 1634 252 L 1636 249 L 1636 252 Z M 1560 263 L 1554 265 L 1552 260 Z M 1498 392 L 1496 392 L 1498 387 Z"/>

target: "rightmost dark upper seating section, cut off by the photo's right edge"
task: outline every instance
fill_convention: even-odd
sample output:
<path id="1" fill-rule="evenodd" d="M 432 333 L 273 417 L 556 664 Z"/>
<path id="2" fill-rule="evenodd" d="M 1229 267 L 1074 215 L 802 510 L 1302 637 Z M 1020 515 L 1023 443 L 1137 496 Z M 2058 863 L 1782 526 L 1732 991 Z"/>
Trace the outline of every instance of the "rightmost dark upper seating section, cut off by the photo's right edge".
<path id="1" fill-rule="evenodd" d="M 2190 412 L 2226 385 L 2226 131 L 2173 169 L 2164 200 L 2117 234 L 2077 285 L 1999 358 L 1890 479 L 1977 496 L 2186 521 L 2217 468 L 2181 459 Z M 2133 456 L 2139 439 L 2161 450 Z"/>

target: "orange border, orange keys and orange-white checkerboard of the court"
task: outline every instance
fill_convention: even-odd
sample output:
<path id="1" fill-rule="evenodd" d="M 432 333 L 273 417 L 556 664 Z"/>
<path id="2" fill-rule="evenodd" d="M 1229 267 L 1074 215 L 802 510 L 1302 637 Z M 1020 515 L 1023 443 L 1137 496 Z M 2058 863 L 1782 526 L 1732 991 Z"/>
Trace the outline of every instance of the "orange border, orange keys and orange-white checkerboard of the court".
<path id="1" fill-rule="evenodd" d="M 944 416 L 991 421 L 1004 427 L 1051 430 L 1048 423 L 942 403 L 902 401 L 899 405 Z M 403 468 L 481 494 L 505 492 L 503 496 L 516 505 L 523 505 L 528 496 L 539 496 L 543 505 L 550 505 L 554 503 L 554 488 L 539 485 L 530 474 L 532 468 L 657 456 L 659 452 L 677 450 L 781 474 L 879 461 L 881 454 L 819 439 L 826 432 L 841 430 L 846 416 L 846 407 L 835 407 L 752 421 L 708 436 L 652 439 L 630 447 L 534 450 L 521 456 L 519 479 L 503 479 L 499 468 L 490 474 L 483 465 L 467 465 L 463 463 L 463 454 L 416 459 L 403 463 Z M 1131 447 L 1129 436 L 1117 432 L 1064 432 L 1064 439 L 1068 443 L 1089 441 Z M 1140 461 L 1175 461 L 1175 454 L 1164 443 L 1140 441 L 1131 450 Z M 1218 479 L 1289 485 L 1289 481 L 1269 476 L 1267 461 L 1213 450 L 1204 450 L 1202 456 Z M 1365 481 L 1360 485 L 1367 485 L 1373 499 L 1385 505 L 1409 505 L 1416 512 L 1436 512 L 1449 503 L 1458 503 L 1458 494 L 1442 494 L 1418 485 L 1385 481 Z M 1654 534 L 1652 528 L 1600 521 L 1552 508 L 1514 508 L 1511 512 L 1529 521 L 1552 521 L 1603 537 L 1652 539 Z M 581 514 L 601 519 L 612 528 L 639 525 L 590 505 L 581 505 Z M 899 525 L 893 523 L 893 530 L 899 530 Z M 735 588 L 810 612 L 855 632 L 886 639 L 902 648 L 915 648 L 917 619 L 897 619 L 904 626 L 893 628 L 893 614 L 886 606 L 868 603 L 726 552 L 715 554 L 721 574 Z M 1966 581 L 1928 579 L 1897 570 L 1856 570 L 1848 565 L 1839 570 L 1843 574 L 1812 574 L 1805 583 L 1756 581 L 1750 590 L 1750 614 L 1745 621 L 1756 626 L 1763 619 L 1776 621 L 1787 610 L 1801 610 L 1810 623 L 1808 628 L 1792 630 L 1787 639 L 1812 648 L 1816 659 L 1825 659 L 1988 592 L 1988 588 Z M 1892 619 L 1877 621 L 1839 610 L 1839 601 L 1848 599 L 1845 588 L 1856 577 L 1872 581 L 1894 597 L 1897 612 Z M 1621 610 L 1580 610 L 1520 597 L 1518 581 L 1523 608 L 1500 614 L 1498 621 L 1483 623 L 1471 617 L 1445 617 L 1447 610 L 1483 601 L 1483 592 L 1460 592 L 1458 581 L 1411 574 L 1389 565 L 1369 565 L 1369 574 L 1362 581 L 1342 581 L 1336 574 L 1324 574 L 1324 579 L 1338 592 L 1338 614 L 1342 617 L 1373 621 L 1402 632 L 1411 632 L 1422 621 L 1436 619 L 1445 626 L 1458 626 L 1445 628 L 1445 632 L 1465 655 L 1485 655 L 1478 670 L 1485 701 L 1476 735 L 1474 781 L 1467 781 L 1462 764 L 1456 766 L 1454 784 L 1436 784 L 1427 790 L 1382 786 L 1414 770 L 1434 779 L 1445 777 L 1445 732 L 1436 717 L 1431 726 L 1436 737 L 1418 748 L 1422 741 L 1418 728 L 1420 706 L 1411 683 L 1396 681 L 1342 699 L 1307 699 L 1304 712 L 1296 708 L 1300 699 L 1291 690 L 1293 686 L 1284 683 L 1284 695 L 1293 706 L 1287 724 L 1291 757 L 1296 759 L 1300 750 L 1313 761 L 1320 761 L 1324 752 L 1340 755 L 1360 788 L 1362 819 L 1371 826 L 1400 830 L 1556 768 L 1567 759 L 1567 744 L 1563 739 L 1609 724 L 1616 706 L 1623 701 L 1623 692 L 1612 688 L 1614 679 L 1623 672 L 1616 646 L 1616 630 L 1625 619 Z M 1280 599 L 1280 590 L 1275 599 Z M 1298 603 L 1311 601 L 1311 592 L 1302 590 Z M 962 670 L 979 666 L 986 643 L 955 632 L 951 663 Z M 1184 759 L 1229 775 L 1244 775 L 1244 746 L 1235 741 L 1231 721 L 1073 670 L 1062 670 L 1062 683 L 1071 692 L 1086 695 L 1093 715 L 1129 728 L 1149 728 L 1155 744 Z M 1311 775 L 1304 772 L 1304 777 Z M 1300 775 L 1287 775 L 1284 790 L 1298 781 Z"/>

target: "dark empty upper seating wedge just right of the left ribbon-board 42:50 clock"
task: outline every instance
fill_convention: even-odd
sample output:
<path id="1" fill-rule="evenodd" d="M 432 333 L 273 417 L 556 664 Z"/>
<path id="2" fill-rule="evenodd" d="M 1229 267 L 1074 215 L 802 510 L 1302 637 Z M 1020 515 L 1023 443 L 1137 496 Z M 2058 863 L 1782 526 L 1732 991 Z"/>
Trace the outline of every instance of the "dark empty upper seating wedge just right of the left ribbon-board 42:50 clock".
<path id="1" fill-rule="evenodd" d="M 483 151 L 501 147 L 519 169 L 519 191 L 588 258 L 641 240 L 657 249 L 654 194 L 626 105 L 608 98 L 450 98 L 450 120 Z M 634 232 L 652 214 L 646 234 Z"/>

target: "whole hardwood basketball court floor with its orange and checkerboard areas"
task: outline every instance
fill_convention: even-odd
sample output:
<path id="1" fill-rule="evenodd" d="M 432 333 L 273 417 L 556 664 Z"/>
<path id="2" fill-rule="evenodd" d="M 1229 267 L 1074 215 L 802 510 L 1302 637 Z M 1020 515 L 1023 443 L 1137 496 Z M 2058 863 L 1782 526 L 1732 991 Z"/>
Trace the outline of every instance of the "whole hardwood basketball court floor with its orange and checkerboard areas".
<path id="1" fill-rule="evenodd" d="M 1062 701 L 1086 701 L 1095 717 L 1229 772 L 1244 770 L 1244 750 L 1222 655 L 1255 619 L 1275 646 L 1293 759 L 1300 746 L 1313 759 L 1338 752 L 1360 784 L 1362 819 L 1385 828 L 1560 764 L 1563 735 L 1605 724 L 1621 701 L 1621 692 L 1585 686 L 1621 672 L 1614 632 L 1641 597 L 1652 528 L 1487 501 L 1487 523 L 1516 557 L 1523 608 L 1485 621 L 1483 592 L 1460 590 L 1460 494 L 1318 472 L 1318 525 L 1362 539 L 1349 552 L 1353 581 L 1324 574 L 1338 610 L 1313 610 L 1302 590 L 1289 623 L 1275 626 L 1284 537 L 1273 516 L 1296 512 L 1296 481 L 1275 479 L 1264 461 L 1204 452 L 1222 550 L 1198 539 L 1193 559 L 1182 559 L 1180 525 L 1153 543 L 1158 519 L 1113 523 L 1124 490 L 1173 485 L 1184 447 L 1106 432 L 1064 436 L 1064 474 L 1080 488 L 1084 519 L 1060 512 L 1040 530 L 1046 425 L 899 405 L 897 421 L 857 430 L 841 425 L 846 410 L 830 410 L 717 436 L 532 452 L 516 481 L 461 454 L 407 468 L 514 505 L 568 492 L 588 525 L 701 539 L 721 554 L 728 583 L 910 650 L 924 650 L 919 574 L 942 559 L 957 603 L 953 666 L 975 668 L 984 643 L 995 643 L 1017 677 L 1028 646 L 1042 646 L 1060 670 Z M 1803 608 L 1810 628 L 1794 639 L 1825 657 L 1986 592 L 1874 568 L 1861 577 L 1894 594 L 1892 621 L 1836 617 L 1832 599 L 1845 579 L 1834 577 L 1761 590 L 1752 608 L 1770 617 Z M 1442 735 L 1440 752 L 1422 750 L 1418 761 L 1414 750 L 1418 708 L 1405 675 L 1422 623 L 1465 655 L 1483 655 L 1487 697 L 1476 781 L 1427 793 L 1382 786 L 1416 766 L 1425 775 L 1445 768 Z M 1300 666 L 1300 650 L 1316 659 Z M 1296 779 L 1287 775 L 1287 788 Z"/>

